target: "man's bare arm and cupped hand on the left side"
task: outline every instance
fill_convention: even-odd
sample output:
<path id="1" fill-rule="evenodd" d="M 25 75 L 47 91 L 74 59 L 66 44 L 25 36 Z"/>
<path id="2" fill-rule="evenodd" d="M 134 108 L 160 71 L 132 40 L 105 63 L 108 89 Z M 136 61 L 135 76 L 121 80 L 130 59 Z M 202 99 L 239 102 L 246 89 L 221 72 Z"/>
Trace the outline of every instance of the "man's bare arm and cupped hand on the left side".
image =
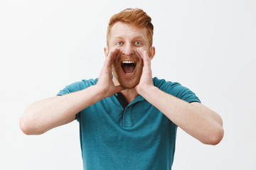
<path id="1" fill-rule="evenodd" d="M 114 50 L 106 57 L 95 86 L 63 96 L 47 98 L 28 106 L 20 119 L 21 130 L 26 135 L 43 134 L 52 128 L 70 123 L 75 120 L 76 113 L 121 91 L 122 86 L 114 86 L 111 70 L 118 53 L 119 50 Z"/>

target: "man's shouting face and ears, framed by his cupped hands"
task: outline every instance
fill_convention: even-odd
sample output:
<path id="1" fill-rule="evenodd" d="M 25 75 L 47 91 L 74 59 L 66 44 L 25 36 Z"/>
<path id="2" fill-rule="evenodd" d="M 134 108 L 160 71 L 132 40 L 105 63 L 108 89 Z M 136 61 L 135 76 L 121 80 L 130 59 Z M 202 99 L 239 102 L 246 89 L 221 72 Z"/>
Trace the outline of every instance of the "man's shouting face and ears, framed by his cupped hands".
<path id="1" fill-rule="evenodd" d="M 143 60 L 137 53 L 137 48 L 144 48 L 150 58 L 154 57 L 154 47 L 149 47 L 146 28 L 137 28 L 122 22 L 114 23 L 108 42 L 108 47 L 105 47 L 106 56 L 115 48 L 120 50 L 112 64 L 113 80 L 126 89 L 134 88 L 139 84 L 143 68 Z"/>

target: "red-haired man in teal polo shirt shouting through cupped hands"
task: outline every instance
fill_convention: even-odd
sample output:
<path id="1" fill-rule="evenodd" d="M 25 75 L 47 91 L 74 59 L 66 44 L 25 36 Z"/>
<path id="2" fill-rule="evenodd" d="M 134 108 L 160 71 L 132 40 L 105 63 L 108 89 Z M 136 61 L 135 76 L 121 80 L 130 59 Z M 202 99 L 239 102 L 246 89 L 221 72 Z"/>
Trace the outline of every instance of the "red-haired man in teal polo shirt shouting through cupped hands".
<path id="1" fill-rule="evenodd" d="M 99 79 L 66 86 L 33 103 L 21 130 L 39 135 L 78 120 L 84 169 L 171 169 L 177 127 L 199 141 L 223 138 L 220 116 L 181 84 L 152 79 L 153 25 L 141 9 L 110 19 Z"/>

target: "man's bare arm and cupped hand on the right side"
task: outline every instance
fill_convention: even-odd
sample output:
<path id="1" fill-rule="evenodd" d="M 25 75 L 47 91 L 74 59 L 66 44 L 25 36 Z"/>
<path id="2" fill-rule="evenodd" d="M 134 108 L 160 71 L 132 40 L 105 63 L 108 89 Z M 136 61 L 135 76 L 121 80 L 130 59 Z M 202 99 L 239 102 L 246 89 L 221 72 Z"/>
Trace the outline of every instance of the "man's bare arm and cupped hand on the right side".
<path id="1" fill-rule="evenodd" d="M 205 144 L 217 145 L 224 133 L 220 116 L 201 103 L 187 103 L 154 86 L 149 57 L 142 49 L 138 52 L 144 60 L 144 67 L 142 78 L 135 87 L 137 93 L 189 135 Z"/>

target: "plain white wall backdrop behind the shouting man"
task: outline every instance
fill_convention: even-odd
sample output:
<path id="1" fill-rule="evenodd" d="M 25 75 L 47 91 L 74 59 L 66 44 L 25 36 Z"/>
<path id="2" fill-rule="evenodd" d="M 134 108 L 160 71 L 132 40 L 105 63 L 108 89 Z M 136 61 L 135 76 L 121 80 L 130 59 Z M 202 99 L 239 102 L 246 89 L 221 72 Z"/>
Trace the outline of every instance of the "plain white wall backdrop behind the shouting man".
<path id="1" fill-rule="evenodd" d="M 153 76 L 187 86 L 223 118 L 217 146 L 178 128 L 173 169 L 255 170 L 255 0 L 1 0 L 0 169 L 82 170 L 76 121 L 38 136 L 18 121 L 31 103 L 100 74 L 107 23 L 128 7 L 152 18 Z"/>

